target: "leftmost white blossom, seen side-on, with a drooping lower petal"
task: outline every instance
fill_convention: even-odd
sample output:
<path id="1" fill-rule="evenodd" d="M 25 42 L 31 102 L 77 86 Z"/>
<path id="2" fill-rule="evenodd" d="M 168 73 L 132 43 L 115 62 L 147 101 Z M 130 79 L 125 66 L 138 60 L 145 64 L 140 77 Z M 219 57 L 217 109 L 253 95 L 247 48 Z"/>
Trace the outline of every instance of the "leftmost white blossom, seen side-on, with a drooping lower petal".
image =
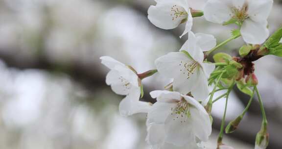
<path id="1" fill-rule="evenodd" d="M 109 56 L 100 57 L 101 63 L 111 71 L 106 76 L 107 85 L 118 95 L 126 95 L 119 103 L 119 113 L 128 116 L 135 113 L 147 112 L 150 108 L 149 102 L 139 101 L 141 87 L 137 74 L 128 66 L 118 62 Z"/>

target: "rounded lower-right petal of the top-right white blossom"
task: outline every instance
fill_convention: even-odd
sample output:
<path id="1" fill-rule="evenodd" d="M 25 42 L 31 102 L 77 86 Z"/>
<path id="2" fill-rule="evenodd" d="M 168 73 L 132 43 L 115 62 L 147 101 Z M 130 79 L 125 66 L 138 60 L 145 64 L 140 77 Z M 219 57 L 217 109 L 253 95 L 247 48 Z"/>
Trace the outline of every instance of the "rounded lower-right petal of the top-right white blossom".
<path id="1" fill-rule="evenodd" d="M 241 27 L 241 35 L 248 44 L 262 44 L 269 36 L 267 21 L 258 23 L 251 19 L 244 21 Z"/>

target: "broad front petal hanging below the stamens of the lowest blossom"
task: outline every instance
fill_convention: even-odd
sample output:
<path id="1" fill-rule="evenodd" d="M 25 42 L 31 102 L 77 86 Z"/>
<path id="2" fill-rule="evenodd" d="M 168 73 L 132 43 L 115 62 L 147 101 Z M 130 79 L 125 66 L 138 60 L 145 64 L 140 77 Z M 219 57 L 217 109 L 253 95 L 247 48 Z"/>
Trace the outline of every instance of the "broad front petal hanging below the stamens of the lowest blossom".
<path id="1" fill-rule="evenodd" d="M 194 141 L 194 134 L 192 133 L 191 122 L 184 116 L 179 114 L 169 115 L 165 121 L 165 142 L 176 145 L 184 146 L 190 141 Z"/>

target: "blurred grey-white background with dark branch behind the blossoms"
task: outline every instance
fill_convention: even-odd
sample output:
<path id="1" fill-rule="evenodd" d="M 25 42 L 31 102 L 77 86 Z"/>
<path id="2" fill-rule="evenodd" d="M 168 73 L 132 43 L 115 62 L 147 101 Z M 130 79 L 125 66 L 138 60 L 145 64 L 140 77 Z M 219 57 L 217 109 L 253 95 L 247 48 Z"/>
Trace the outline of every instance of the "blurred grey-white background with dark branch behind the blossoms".
<path id="1" fill-rule="evenodd" d="M 282 25 L 282 0 L 274 0 L 270 32 Z M 190 0 L 202 9 L 205 0 Z M 121 117 L 115 95 L 105 84 L 109 71 L 99 57 L 109 55 L 139 73 L 155 69 L 154 60 L 177 51 L 187 36 L 184 26 L 163 30 L 147 19 L 154 0 L 0 0 L 0 149 L 149 149 L 145 114 Z M 235 26 L 194 18 L 193 31 L 213 34 L 218 43 Z M 236 39 L 223 47 L 232 55 L 243 45 Z M 256 75 L 269 122 L 268 149 L 282 149 L 282 58 L 265 56 Z M 168 79 L 144 79 L 148 93 L 163 89 Z M 217 94 L 216 96 L 220 95 Z M 242 112 L 249 97 L 231 94 L 227 122 Z M 213 106 L 215 149 L 224 99 Z M 235 133 L 224 143 L 253 149 L 261 114 L 254 100 Z"/>

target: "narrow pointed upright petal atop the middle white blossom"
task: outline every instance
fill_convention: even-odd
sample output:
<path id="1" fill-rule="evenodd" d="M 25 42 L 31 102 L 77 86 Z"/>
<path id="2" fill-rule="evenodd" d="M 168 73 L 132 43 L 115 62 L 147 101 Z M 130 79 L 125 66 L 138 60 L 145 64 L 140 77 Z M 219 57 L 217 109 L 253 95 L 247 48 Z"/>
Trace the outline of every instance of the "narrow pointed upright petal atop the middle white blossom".
<path id="1" fill-rule="evenodd" d="M 189 31 L 188 40 L 184 43 L 179 51 L 185 50 L 197 62 L 203 62 L 204 53 L 197 45 L 197 38 L 192 31 Z"/>

